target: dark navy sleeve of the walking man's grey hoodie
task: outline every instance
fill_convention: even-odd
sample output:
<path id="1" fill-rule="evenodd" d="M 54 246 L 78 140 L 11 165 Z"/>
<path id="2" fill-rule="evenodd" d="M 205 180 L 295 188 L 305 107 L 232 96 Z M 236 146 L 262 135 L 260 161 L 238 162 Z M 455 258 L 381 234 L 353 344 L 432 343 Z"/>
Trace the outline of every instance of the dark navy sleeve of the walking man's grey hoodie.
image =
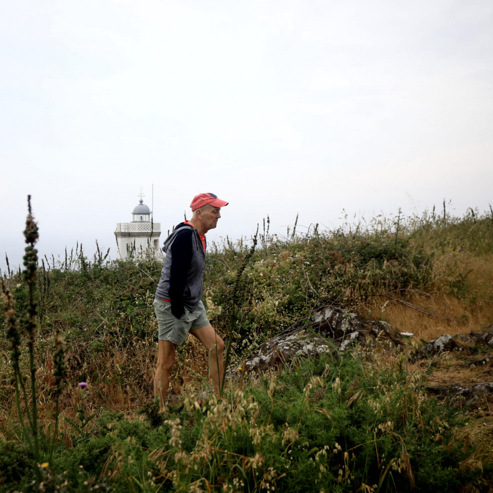
<path id="1" fill-rule="evenodd" d="M 183 228 L 170 246 L 169 300 L 171 313 L 177 319 L 185 313 L 183 293 L 192 257 L 192 234 L 193 231 L 190 228 Z"/>

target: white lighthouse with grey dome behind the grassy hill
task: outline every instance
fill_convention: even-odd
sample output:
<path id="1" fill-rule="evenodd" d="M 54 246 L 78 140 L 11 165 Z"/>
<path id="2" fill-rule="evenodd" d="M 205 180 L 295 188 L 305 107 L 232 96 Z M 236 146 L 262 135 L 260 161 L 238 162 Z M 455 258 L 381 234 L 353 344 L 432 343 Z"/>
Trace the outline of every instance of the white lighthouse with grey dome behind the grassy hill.
<path id="1" fill-rule="evenodd" d="M 159 237 L 161 223 L 154 223 L 152 212 L 144 204 L 140 194 L 140 201 L 132 211 L 131 223 L 117 223 L 115 237 L 117 239 L 117 258 L 154 256 L 159 253 Z"/>

